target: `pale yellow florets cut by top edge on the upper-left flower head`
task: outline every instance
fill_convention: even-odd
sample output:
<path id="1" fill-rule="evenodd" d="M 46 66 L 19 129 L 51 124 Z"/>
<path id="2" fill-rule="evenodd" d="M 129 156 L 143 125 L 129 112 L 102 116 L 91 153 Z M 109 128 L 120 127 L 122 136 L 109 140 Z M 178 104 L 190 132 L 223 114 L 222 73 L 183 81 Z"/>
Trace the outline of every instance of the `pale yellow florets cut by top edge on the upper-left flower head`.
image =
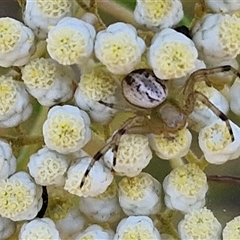
<path id="1" fill-rule="evenodd" d="M 39 10 L 48 17 L 61 17 L 69 12 L 71 8 L 71 1 L 69 0 L 37 0 L 36 3 Z"/>

